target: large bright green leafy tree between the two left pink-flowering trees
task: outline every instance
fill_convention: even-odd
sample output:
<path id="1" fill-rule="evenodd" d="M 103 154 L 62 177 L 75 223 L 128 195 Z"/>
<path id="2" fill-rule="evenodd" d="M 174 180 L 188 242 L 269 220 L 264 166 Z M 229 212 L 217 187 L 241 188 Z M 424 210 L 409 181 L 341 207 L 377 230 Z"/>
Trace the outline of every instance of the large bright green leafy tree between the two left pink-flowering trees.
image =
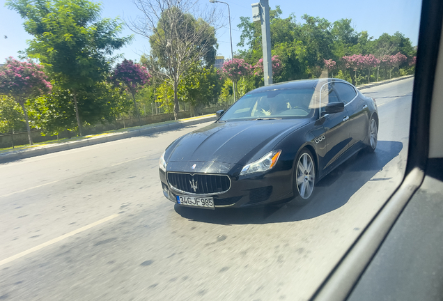
<path id="1" fill-rule="evenodd" d="M 102 82 L 114 50 L 132 37 L 116 38 L 122 30 L 118 19 L 100 19 L 100 5 L 87 0 L 8 0 L 6 5 L 24 18 L 24 29 L 33 36 L 26 53 L 45 65 L 52 79 L 70 91 L 82 133 L 79 91 Z"/>

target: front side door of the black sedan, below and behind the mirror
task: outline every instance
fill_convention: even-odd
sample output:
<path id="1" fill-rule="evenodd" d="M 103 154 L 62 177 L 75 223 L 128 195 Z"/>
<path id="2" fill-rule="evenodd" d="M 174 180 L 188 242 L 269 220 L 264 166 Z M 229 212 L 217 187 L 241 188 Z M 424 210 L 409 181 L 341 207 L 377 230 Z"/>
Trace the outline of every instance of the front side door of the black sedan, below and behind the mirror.
<path id="1" fill-rule="evenodd" d="M 325 105 L 329 102 L 339 102 L 331 84 L 325 84 L 320 93 L 320 104 Z M 321 110 L 321 107 L 320 107 Z M 321 114 L 321 113 L 320 113 Z M 325 168 L 333 168 L 335 164 L 339 164 L 340 156 L 348 149 L 350 141 L 350 123 L 348 110 L 334 114 L 323 116 L 323 128 L 325 128 L 325 138 L 327 143 L 327 154 L 325 156 Z"/>

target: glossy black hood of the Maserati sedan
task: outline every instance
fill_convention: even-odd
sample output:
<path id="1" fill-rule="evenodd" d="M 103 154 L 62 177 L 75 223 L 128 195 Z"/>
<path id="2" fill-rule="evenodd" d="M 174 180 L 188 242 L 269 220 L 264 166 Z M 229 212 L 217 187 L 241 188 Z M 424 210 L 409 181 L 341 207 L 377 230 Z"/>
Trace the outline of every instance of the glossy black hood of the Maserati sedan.
<path id="1" fill-rule="evenodd" d="M 307 123 L 308 119 L 212 123 L 176 140 L 166 151 L 165 159 L 167 162 L 193 162 L 196 164 L 194 171 L 199 171 L 199 162 L 230 166 L 247 164 L 271 151 L 283 137 Z"/>

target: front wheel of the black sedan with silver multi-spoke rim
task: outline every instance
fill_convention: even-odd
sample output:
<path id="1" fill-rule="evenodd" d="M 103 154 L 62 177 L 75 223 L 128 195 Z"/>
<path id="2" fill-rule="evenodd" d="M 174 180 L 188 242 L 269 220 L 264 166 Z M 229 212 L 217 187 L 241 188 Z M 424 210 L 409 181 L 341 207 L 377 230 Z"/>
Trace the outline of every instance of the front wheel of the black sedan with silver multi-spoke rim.
<path id="1" fill-rule="evenodd" d="M 296 203 L 303 205 L 312 196 L 316 184 L 316 164 L 313 155 L 307 148 L 303 148 L 297 157 L 294 170 L 293 190 L 298 193 Z"/>

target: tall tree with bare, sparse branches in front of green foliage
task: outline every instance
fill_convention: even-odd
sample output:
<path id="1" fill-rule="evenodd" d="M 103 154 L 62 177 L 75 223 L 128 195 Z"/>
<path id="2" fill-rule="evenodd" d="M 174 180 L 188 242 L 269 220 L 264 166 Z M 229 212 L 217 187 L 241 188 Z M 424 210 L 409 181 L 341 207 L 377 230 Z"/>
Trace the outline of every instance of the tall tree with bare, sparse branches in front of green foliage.
<path id="1" fill-rule="evenodd" d="M 155 77 L 173 88 L 174 118 L 179 111 L 178 86 L 185 74 L 197 62 L 211 65 L 215 61 L 217 39 L 214 13 L 203 18 L 192 15 L 195 9 L 189 0 L 136 0 L 143 13 L 138 22 L 132 22 L 134 32 L 149 39 L 151 65 Z"/>

